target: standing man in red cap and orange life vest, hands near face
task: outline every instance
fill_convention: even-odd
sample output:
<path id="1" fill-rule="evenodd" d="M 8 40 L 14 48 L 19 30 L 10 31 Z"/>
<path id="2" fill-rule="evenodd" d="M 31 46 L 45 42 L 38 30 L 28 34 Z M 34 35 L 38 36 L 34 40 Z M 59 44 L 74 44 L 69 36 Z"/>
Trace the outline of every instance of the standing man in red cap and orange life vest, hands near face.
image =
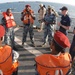
<path id="1" fill-rule="evenodd" d="M 33 24 L 35 20 L 34 11 L 31 9 L 31 6 L 28 4 L 25 6 L 25 9 L 22 12 L 21 21 L 24 24 L 23 28 L 23 38 L 22 38 L 22 45 L 26 45 L 26 37 L 27 33 L 29 32 L 30 40 L 33 46 L 34 44 L 34 33 L 33 33 Z"/>

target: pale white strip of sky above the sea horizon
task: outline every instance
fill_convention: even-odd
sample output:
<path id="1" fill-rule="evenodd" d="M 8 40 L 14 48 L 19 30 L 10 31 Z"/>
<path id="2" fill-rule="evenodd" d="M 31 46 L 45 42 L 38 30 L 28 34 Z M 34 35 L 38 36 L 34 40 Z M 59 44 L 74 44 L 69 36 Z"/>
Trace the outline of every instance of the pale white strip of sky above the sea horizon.
<path id="1" fill-rule="evenodd" d="M 70 4 L 70 5 L 75 6 L 75 0 L 0 0 L 0 3 L 18 2 L 18 1 L 44 1 L 44 2 L 55 2 L 55 3 Z"/>

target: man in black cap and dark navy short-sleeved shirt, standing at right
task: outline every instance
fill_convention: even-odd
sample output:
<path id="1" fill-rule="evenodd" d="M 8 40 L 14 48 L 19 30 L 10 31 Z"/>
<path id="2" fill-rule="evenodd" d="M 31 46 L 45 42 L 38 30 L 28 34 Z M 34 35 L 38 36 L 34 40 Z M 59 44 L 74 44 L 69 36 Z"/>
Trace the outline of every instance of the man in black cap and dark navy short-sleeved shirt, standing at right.
<path id="1" fill-rule="evenodd" d="M 63 6 L 62 8 L 60 8 L 60 10 L 62 13 L 62 17 L 61 17 L 61 21 L 58 22 L 58 26 L 60 26 L 59 31 L 67 35 L 67 30 L 70 29 L 70 25 L 71 25 L 71 20 L 70 17 L 68 16 L 68 8 Z"/>

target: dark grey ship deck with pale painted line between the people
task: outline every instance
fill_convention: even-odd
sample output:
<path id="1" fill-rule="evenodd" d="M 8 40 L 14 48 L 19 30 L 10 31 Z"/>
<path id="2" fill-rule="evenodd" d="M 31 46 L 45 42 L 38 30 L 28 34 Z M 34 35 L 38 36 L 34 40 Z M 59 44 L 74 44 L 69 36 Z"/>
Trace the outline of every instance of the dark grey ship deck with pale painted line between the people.
<path id="1" fill-rule="evenodd" d="M 37 32 L 37 30 L 34 30 L 36 47 L 32 46 L 29 34 L 27 36 L 26 42 L 27 45 L 22 46 L 22 34 L 23 34 L 22 27 L 15 28 L 15 44 L 16 48 L 18 49 L 17 52 L 20 54 L 18 75 L 35 75 L 34 58 L 44 53 L 50 53 L 50 48 L 48 43 L 45 47 L 40 46 L 43 44 L 43 31 L 39 33 Z M 71 42 L 73 34 L 69 33 L 68 37 Z M 66 49 L 66 51 L 68 51 L 68 49 Z"/>

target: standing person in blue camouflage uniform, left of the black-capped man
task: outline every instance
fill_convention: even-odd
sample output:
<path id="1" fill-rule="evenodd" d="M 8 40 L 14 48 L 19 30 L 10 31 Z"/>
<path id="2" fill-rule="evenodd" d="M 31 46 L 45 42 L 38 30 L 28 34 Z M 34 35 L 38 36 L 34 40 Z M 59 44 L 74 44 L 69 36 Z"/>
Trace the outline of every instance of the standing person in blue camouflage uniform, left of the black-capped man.
<path id="1" fill-rule="evenodd" d="M 51 40 L 53 39 L 53 36 L 52 36 L 53 28 L 52 27 L 54 24 L 56 24 L 56 15 L 52 10 L 53 10 L 52 7 L 48 6 L 47 13 L 43 19 L 45 26 L 44 26 L 44 43 L 42 44 L 42 46 L 46 45 L 47 35 L 48 35 L 49 45 L 51 43 Z"/>

